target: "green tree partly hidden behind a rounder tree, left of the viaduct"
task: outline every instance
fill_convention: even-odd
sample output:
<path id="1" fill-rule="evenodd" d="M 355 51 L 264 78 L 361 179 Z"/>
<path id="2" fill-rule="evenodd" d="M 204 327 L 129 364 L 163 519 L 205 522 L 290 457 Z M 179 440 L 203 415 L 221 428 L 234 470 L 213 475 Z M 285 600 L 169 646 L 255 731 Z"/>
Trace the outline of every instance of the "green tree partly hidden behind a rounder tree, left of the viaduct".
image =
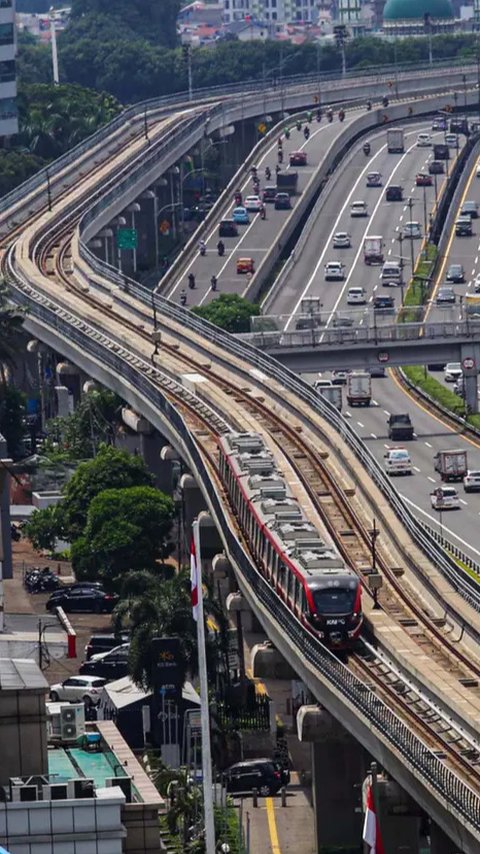
<path id="1" fill-rule="evenodd" d="M 66 484 L 59 509 L 63 536 L 70 542 L 82 536 L 90 503 L 100 492 L 152 485 L 153 477 L 140 457 L 101 446 L 95 459 L 79 465 Z"/>

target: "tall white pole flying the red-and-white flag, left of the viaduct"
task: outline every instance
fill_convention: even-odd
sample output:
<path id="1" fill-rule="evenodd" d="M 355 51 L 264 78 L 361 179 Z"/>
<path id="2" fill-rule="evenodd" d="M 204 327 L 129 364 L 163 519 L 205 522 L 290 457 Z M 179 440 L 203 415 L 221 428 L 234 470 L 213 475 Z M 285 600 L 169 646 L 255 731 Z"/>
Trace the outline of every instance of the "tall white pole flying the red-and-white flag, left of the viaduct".
<path id="1" fill-rule="evenodd" d="M 198 590 L 198 674 L 200 676 L 200 711 L 202 719 L 202 775 L 203 809 L 205 819 L 206 854 L 215 854 L 215 817 L 213 814 L 212 754 L 210 750 L 210 713 L 208 706 L 207 658 L 205 651 L 205 622 L 203 619 L 202 561 L 200 552 L 200 525 L 198 519 L 193 522 L 193 543 L 197 567 Z"/>

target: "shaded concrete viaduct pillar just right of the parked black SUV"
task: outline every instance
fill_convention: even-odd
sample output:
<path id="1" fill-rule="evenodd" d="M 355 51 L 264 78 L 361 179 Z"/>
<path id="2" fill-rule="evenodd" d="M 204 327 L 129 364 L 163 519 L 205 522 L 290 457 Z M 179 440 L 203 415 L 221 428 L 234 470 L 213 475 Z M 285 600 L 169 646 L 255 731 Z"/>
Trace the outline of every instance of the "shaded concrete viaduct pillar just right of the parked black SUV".
<path id="1" fill-rule="evenodd" d="M 300 741 L 312 743 L 316 854 L 330 847 L 358 850 L 363 821 L 360 786 L 368 767 L 366 751 L 319 706 L 300 708 L 297 730 Z"/>

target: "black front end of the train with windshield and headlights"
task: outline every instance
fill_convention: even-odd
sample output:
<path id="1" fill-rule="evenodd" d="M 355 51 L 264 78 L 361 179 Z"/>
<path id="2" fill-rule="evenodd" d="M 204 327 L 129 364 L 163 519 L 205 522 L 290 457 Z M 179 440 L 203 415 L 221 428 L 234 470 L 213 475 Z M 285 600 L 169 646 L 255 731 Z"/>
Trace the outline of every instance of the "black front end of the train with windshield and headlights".
<path id="1" fill-rule="evenodd" d="M 362 585 L 350 569 L 326 570 L 310 578 L 309 621 L 315 634 L 332 649 L 355 645 L 363 623 Z"/>

